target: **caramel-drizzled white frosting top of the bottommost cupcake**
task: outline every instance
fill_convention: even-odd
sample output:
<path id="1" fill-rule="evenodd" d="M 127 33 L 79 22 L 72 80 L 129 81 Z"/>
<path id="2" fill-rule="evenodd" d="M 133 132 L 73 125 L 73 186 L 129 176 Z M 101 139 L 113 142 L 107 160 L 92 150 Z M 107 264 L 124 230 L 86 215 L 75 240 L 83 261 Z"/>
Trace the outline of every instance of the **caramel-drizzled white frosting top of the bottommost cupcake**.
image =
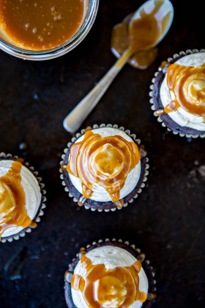
<path id="1" fill-rule="evenodd" d="M 78 308 L 118 308 L 122 304 L 138 308 L 147 299 L 148 279 L 140 261 L 127 250 L 102 246 L 81 256 L 71 290 Z"/>

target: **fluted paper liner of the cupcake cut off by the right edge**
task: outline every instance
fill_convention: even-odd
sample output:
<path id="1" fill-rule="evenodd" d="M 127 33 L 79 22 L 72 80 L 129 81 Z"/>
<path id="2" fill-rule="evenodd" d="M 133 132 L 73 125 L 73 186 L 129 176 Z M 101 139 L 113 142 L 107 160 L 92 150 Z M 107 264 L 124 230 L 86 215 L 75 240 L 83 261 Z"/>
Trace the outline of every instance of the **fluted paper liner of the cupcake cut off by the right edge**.
<path id="1" fill-rule="evenodd" d="M 168 59 L 167 59 L 167 61 L 169 62 L 169 63 L 171 63 L 171 61 L 173 61 L 173 60 L 175 60 L 176 58 L 179 58 L 179 57 L 181 57 L 181 56 L 185 56 L 185 55 L 190 55 L 190 54 L 193 54 L 193 53 L 199 53 L 199 52 L 205 52 L 205 49 L 200 49 L 200 50 L 198 50 L 198 49 L 187 49 L 186 51 L 180 51 L 179 52 L 179 54 L 177 54 L 177 53 L 175 53 L 174 55 L 173 55 L 173 57 L 171 58 L 171 57 L 169 57 Z M 167 125 L 164 123 L 164 121 L 162 120 L 162 118 L 160 117 L 160 116 L 158 116 L 157 115 L 157 113 L 156 113 L 156 108 L 155 108 L 155 105 L 154 105 L 154 102 L 153 102 L 153 87 L 154 87 L 154 83 L 155 83 L 155 79 L 156 79 L 156 77 L 157 77 L 157 75 L 159 74 L 159 72 L 160 72 L 160 69 L 158 68 L 158 71 L 154 74 L 154 78 L 152 79 L 152 84 L 150 85 L 150 92 L 149 92 L 149 96 L 151 97 L 150 98 L 150 103 L 152 104 L 152 106 L 151 106 L 151 109 L 152 109 L 152 111 L 154 111 L 154 116 L 156 116 L 157 117 L 157 121 L 159 122 L 159 123 L 161 123 L 161 125 L 163 126 L 163 127 L 165 127 L 165 128 L 167 128 L 167 131 L 168 132 L 172 132 L 174 135 L 178 135 L 179 134 L 179 136 L 180 137 L 187 137 L 187 138 L 198 138 L 198 137 L 201 137 L 201 138 L 204 138 L 205 137 L 205 132 L 203 133 L 197 133 L 197 130 L 195 130 L 196 131 L 196 134 L 193 134 L 193 133 L 191 133 L 191 134 L 188 134 L 188 133 L 180 133 L 180 132 L 177 132 L 177 131 L 175 131 L 174 129 L 170 129 L 170 128 L 168 128 L 167 127 Z M 170 118 L 170 122 L 174 122 L 171 118 Z M 192 129 L 192 130 L 194 130 L 194 129 Z"/>

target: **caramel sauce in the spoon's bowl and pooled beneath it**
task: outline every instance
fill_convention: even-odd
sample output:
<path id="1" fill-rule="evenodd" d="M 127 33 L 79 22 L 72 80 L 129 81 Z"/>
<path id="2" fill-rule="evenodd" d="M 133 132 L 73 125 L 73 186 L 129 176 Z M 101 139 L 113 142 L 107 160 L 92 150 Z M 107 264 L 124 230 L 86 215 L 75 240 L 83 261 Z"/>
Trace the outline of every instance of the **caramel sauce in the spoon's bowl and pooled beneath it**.
<path id="1" fill-rule="evenodd" d="M 131 26 L 128 24 L 134 13 L 128 15 L 112 29 L 111 49 L 118 55 L 130 49 L 133 55 L 128 63 L 133 67 L 146 69 L 156 60 L 158 49 L 152 46 L 166 29 L 171 16 L 169 12 L 162 20 L 158 19 L 157 13 L 163 3 L 164 0 L 156 0 L 155 7 L 149 14 L 142 9 L 140 18 L 135 19 Z"/>

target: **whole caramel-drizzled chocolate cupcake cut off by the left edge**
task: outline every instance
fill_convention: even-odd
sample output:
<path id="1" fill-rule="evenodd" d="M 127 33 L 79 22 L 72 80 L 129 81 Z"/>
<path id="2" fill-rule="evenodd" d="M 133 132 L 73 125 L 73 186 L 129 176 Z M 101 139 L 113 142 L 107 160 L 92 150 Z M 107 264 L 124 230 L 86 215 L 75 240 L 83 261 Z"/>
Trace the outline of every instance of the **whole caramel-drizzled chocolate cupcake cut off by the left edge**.
<path id="1" fill-rule="evenodd" d="M 0 153 L 0 241 L 18 240 L 37 226 L 45 208 L 44 184 L 34 167 Z"/>

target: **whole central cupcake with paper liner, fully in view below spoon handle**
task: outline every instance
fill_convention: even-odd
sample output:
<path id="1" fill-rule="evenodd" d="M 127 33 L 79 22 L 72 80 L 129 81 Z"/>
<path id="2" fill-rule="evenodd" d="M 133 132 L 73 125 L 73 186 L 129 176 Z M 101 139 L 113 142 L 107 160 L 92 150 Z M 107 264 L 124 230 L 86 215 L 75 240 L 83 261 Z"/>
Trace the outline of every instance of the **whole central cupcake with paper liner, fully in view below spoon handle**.
<path id="1" fill-rule="evenodd" d="M 61 157 L 62 184 L 86 209 L 109 211 L 132 202 L 147 180 L 148 158 L 136 135 L 117 125 L 94 125 L 68 143 Z"/>

